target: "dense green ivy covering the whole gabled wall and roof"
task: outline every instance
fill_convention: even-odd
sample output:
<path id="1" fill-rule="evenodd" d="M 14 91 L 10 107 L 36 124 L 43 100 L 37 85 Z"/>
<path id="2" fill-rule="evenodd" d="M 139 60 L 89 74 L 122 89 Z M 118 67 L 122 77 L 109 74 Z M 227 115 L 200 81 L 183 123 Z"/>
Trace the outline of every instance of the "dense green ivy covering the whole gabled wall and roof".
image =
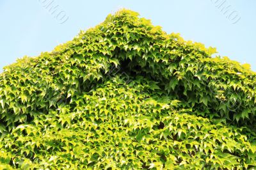
<path id="1" fill-rule="evenodd" d="M 121 10 L 0 76 L 0 169 L 255 169 L 256 73 Z"/>

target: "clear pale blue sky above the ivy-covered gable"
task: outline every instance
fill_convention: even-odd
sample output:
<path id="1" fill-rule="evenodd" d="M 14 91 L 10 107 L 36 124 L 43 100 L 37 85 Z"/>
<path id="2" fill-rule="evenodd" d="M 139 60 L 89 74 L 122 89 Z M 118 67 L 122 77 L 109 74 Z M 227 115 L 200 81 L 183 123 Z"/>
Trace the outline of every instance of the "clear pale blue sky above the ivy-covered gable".
<path id="1" fill-rule="evenodd" d="M 0 70 L 22 56 L 51 51 L 120 8 L 140 13 L 167 33 L 216 47 L 221 56 L 250 63 L 256 71 L 255 0 L 1 0 Z"/>

